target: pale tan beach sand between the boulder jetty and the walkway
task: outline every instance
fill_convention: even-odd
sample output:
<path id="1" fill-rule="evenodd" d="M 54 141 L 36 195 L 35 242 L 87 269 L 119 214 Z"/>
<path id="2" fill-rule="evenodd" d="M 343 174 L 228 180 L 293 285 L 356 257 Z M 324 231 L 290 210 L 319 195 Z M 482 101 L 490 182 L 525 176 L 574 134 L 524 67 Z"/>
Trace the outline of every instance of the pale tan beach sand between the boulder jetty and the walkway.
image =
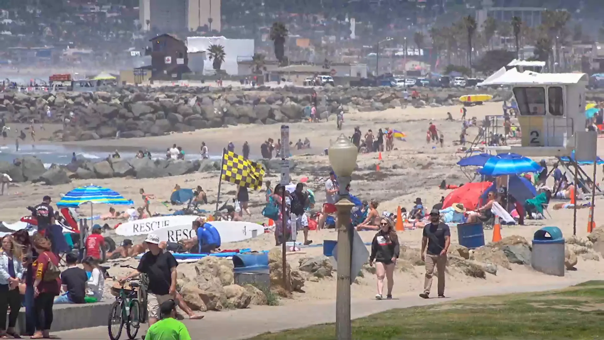
<path id="1" fill-rule="evenodd" d="M 446 121 L 447 113 L 450 112 L 455 121 Z M 501 114 L 501 103 L 486 103 L 483 106 L 474 106 L 468 108 L 467 117 L 477 117 L 482 119 L 487 114 Z M 354 126 L 360 126 L 362 132 L 367 129 L 373 129 L 374 133 L 379 128 L 394 128 L 406 133 L 406 142 L 396 140 L 394 151 L 382 152 L 383 160 L 379 162 L 381 171 L 375 171 L 375 165 L 378 163 L 378 154 L 361 154 L 358 157 L 359 170 L 353 174 L 352 194 L 362 200 L 372 198 L 379 201 L 378 211 L 396 212 L 397 206 L 405 207 L 410 210 L 416 197 L 422 198 L 426 206 L 431 207 L 438 203 L 440 197 L 446 196 L 450 190 L 439 189 L 442 180 L 448 183 L 459 184 L 467 182 L 467 178 L 461 172 L 461 169 L 455 165 L 462 153 L 457 153 L 458 146 L 453 145 L 453 140 L 458 139 L 461 131 L 460 106 L 444 106 L 439 108 L 396 108 L 381 112 L 366 113 L 347 113 L 345 114 L 345 123 L 343 132 L 347 136 L 352 135 Z M 428 123 L 434 122 L 437 128 L 445 136 L 444 147 L 434 143 L 426 144 L 425 134 Z M 289 124 L 291 137 L 290 140 L 297 142 L 298 139 L 309 138 L 312 149 L 295 150 L 292 148 L 292 159 L 299 165 L 329 166 L 329 160 L 321 155 L 324 148 L 327 148 L 330 140 L 335 140 L 340 131 L 336 130 L 335 121 L 321 123 L 291 123 Z M 48 129 L 47 131 L 50 131 Z M 188 133 L 172 134 L 170 136 L 146 137 L 141 139 L 118 139 L 118 140 L 92 140 L 86 142 L 60 143 L 60 145 L 70 145 L 91 148 L 149 148 L 162 149 L 175 143 L 183 146 L 187 153 L 198 153 L 199 145 L 205 141 L 210 146 L 212 154 L 220 153 L 220 149 L 226 146 L 228 142 L 236 145 L 236 152 L 239 152 L 243 142 L 247 141 L 251 145 L 252 155 L 260 154 L 260 144 L 269 137 L 275 141 L 280 136 L 280 125 L 239 125 L 228 128 L 203 129 Z M 470 136 L 467 140 L 474 140 L 477 134 L 477 128 L 468 130 Z M 14 141 L 13 141 L 14 143 Z M 48 143 L 48 142 L 42 142 Z M 10 143 L 9 143 L 10 145 Z M 599 146 L 604 144 L 599 140 Z M 551 167 L 554 159 L 546 159 L 548 166 Z M 539 160 L 537 160 L 539 161 Z M 591 175 L 591 167 L 585 167 L 586 172 Z M 563 169 L 565 172 L 565 169 Z M 309 171 L 309 173 L 300 173 L 292 175 L 292 181 L 296 183 L 301 177 L 309 177 L 309 188 L 316 192 L 318 202 L 324 202 L 324 183 L 323 180 L 328 176 L 327 172 Z M 570 174 L 569 174 L 570 177 Z M 109 178 L 96 180 L 74 180 L 69 185 L 43 186 L 36 184 L 24 184 L 20 186 L 11 186 L 10 195 L 0 196 L 0 220 L 12 223 L 24 215 L 28 214 L 28 205 L 40 203 L 44 195 L 53 197 L 53 201 L 60 199 L 60 194 L 68 192 L 72 188 L 83 185 L 106 186 L 120 192 L 124 197 L 135 201 L 137 206 L 142 204 L 138 191 L 144 188 L 149 194 L 155 194 L 157 199 L 153 200 L 151 211 L 162 214 L 169 213 L 169 209 L 162 204 L 162 201 L 169 200 L 172 188 L 180 185 L 182 188 L 195 188 L 201 185 L 207 192 L 210 204 L 200 208 L 208 211 L 214 209 L 216 203 L 217 187 L 219 183 L 219 172 L 194 173 L 175 177 L 153 178 L 153 179 L 133 179 L 133 178 Z M 598 169 L 597 180 L 601 180 L 601 168 Z M 269 174 L 265 178 L 271 180 L 274 186 L 279 178 L 278 174 Z M 551 181 L 551 179 L 550 179 Z M 553 185 L 552 183 L 549 183 Z M 234 198 L 236 187 L 230 183 L 223 183 L 221 200 Z M 596 198 L 596 209 L 602 204 L 600 196 Z M 261 214 L 265 203 L 263 191 L 250 192 L 250 210 L 251 216 L 244 216 L 244 220 L 254 222 L 264 222 Z M 555 201 L 552 201 L 555 203 Z M 317 204 L 319 206 L 319 204 Z M 175 206 L 174 209 L 178 209 Z M 107 212 L 109 206 L 95 206 L 95 214 Z M 124 208 L 125 210 L 125 208 Z M 599 217 L 602 216 L 596 210 L 596 224 L 601 225 Z M 565 237 L 573 235 L 573 211 L 561 209 L 553 211 L 549 209 L 546 220 L 526 220 L 525 226 L 504 226 L 501 230 L 503 237 L 519 235 L 532 240 L 536 230 L 543 226 L 557 226 L 562 229 Z M 89 215 L 90 207 L 80 208 L 80 214 Z M 587 235 L 588 209 L 577 211 L 577 237 L 584 238 Z M 109 224 L 118 223 L 118 221 L 107 221 Z M 485 238 L 488 241 L 492 239 L 492 230 L 484 230 Z M 374 232 L 360 232 L 365 242 L 371 241 Z M 457 230 L 451 229 L 452 243 L 458 242 Z M 116 241 L 123 237 L 118 237 L 112 232 L 106 232 L 106 236 L 112 236 Z M 298 241 L 302 234 L 298 233 Z M 309 235 L 313 244 L 320 244 L 323 240 L 335 240 L 336 233 L 333 230 L 311 231 Z M 405 230 L 399 232 L 399 239 L 403 244 L 412 248 L 419 248 L 422 238 L 422 230 Z M 141 241 L 141 237 L 135 238 L 135 241 Z M 225 244 L 223 247 L 230 249 L 239 247 L 250 247 L 254 250 L 269 250 L 274 247 L 275 240 L 272 234 L 264 234 L 249 241 L 235 244 Z M 315 257 L 322 252 L 321 247 L 308 247 L 288 255 L 289 263 L 292 267 L 298 266 L 298 260 L 305 257 Z M 599 257 L 598 257 L 599 259 Z M 567 271 L 564 278 L 557 276 L 548 276 L 535 272 L 530 267 L 512 264 L 512 269 L 499 268 L 496 275 L 487 275 L 486 279 L 472 278 L 461 272 L 448 270 L 447 287 L 451 290 L 472 290 L 476 286 L 511 286 L 514 284 L 547 284 L 558 283 L 562 281 L 593 280 L 604 278 L 604 267 L 599 261 L 583 260 L 579 256 L 579 262 L 574 271 Z M 116 275 L 112 273 L 112 275 Z M 403 294 L 408 292 L 420 292 L 423 284 L 423 267 L 411 267 L 396 270 L 395 273 L 394 294 Z M 435 289 L 435 284 L 434 284 Z M 316 299 L 335 299 L 335 276 L 333 278 L 324 278 L 318 282 L 307 281 L 304 286 L 305 293 L 296 293 L 295 300 L 316 300 Z M 358 278 L 358 284 L 353 285 L 352 294 L 356 297 L 371 297 L 375 293 L 375 276 L 365 274 L 364 278 Z M 284 303 L 290 303 L 285 300 Z"/>

